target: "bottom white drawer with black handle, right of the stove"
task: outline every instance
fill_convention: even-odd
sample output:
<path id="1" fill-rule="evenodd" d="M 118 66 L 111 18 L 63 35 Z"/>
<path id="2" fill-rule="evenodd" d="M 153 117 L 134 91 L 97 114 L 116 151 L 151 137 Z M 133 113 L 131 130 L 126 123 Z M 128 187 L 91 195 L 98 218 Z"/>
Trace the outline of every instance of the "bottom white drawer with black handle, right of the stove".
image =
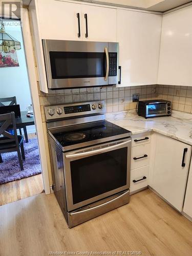
<path id="1" fill-rule="evenodd" d="M 148 169 L 149 169 L 149 166 L 147 165 L 147 166 L 143 166 L 143 167 L 131 170 L 130 192 L 147 187 Z M 146 179 L 143 179 L 144 177 L 146 177 Z"/>

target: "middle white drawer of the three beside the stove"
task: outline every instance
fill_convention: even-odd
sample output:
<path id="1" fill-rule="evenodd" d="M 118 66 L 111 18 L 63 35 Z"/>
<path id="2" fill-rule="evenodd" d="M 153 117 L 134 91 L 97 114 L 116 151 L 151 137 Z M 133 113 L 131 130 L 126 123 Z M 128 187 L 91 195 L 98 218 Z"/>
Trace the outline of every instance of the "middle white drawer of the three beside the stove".
<path id="1" fill-rule="evenodd" d="M 149 161 L 150 143 L 132 147 L 131 169 L 136 169 L 144 165 L 148 165 Z"/>

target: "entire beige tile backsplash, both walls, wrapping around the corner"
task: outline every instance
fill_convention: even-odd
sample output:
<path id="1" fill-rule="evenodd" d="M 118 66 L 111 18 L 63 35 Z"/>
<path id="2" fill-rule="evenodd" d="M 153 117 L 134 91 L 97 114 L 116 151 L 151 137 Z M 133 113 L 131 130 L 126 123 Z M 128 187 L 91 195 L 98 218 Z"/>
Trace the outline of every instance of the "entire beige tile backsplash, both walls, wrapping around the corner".
<path id="1" fill-rule="evenodd" d="M 135 87 L 95 87 L 81 89 L 49 90 L 49 94 L 39 91 L 42 119 L 45 122 L 45 105 L 105 100 L 108 113 L 136 108 L 133 94 L 140 100 L 165 99 L 173 102 L 173 110 L 192 113 L 192 87 L 184 86 L 135 86 Z"/>

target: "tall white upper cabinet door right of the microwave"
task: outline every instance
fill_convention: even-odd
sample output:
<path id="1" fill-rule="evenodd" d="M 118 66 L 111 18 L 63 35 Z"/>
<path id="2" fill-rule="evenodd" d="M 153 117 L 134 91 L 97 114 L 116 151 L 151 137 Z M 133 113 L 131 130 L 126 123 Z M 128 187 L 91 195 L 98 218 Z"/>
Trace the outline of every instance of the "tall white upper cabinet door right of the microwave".
<path id="1" fill-rule="evenodd" d="M 121 86 L 157 83 L 161 21 L 160 15 L 117 10 Z"/>

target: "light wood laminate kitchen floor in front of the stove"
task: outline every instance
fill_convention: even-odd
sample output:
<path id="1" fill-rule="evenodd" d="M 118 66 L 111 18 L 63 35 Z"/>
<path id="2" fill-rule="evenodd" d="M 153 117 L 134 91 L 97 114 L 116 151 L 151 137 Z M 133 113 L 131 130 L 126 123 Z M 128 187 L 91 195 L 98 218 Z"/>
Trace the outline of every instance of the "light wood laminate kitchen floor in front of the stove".
<path id="1" fill-rule="evenodd" d="M 149 189 L 131 196 L 129 204 L 72 229 L 54 194 L 40 194 L 0 206 L 0 227 L 3 256 L 42 256 L 49 251 L 141 251 L 159 256 L 192 252 L 192 223 Z"/>

